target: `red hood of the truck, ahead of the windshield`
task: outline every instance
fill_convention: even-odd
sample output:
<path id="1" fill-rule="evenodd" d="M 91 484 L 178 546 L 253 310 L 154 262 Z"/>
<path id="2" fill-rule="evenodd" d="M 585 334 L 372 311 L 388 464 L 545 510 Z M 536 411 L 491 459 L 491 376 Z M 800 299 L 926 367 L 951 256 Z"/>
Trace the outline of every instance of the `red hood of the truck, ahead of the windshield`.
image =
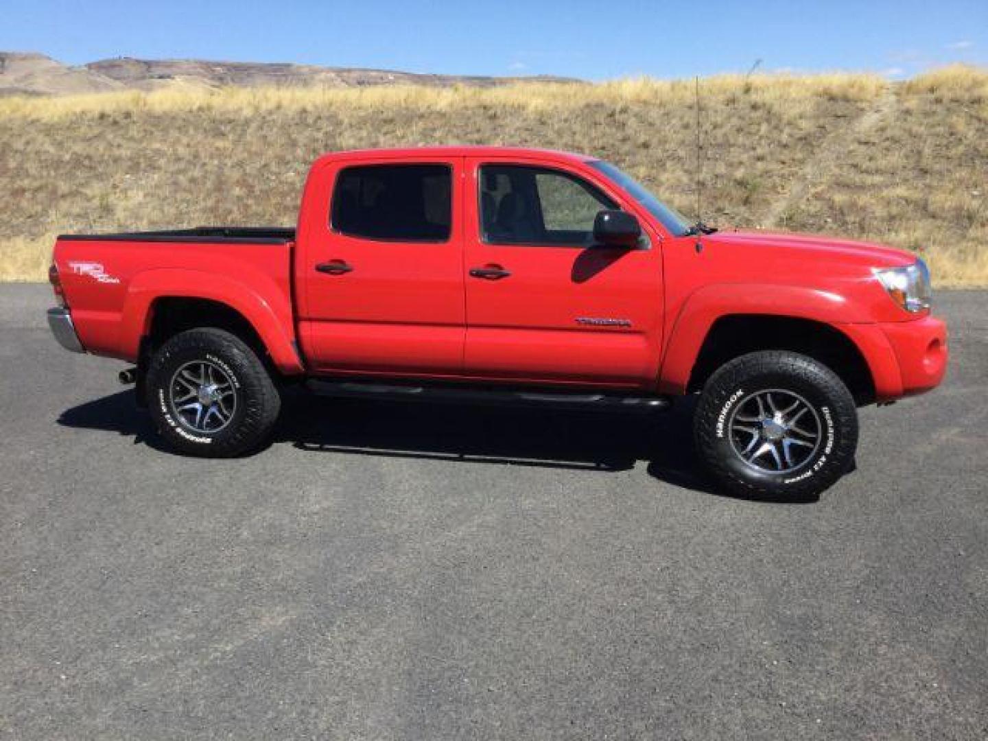
<path id="1" fill-rule="evenodd" d="M 905 250 L 822 235 L 766 231 L 718 231 L 703 237 L 703 242 L 723 245 L 728 249 L 744 249 L 757 253 L 783 250 L 790 253 L 791 257 L 799 257 L 798 253 L 802 253 L 807 259 L 813 261 L 843 262 L 868 268 L 892 268 L 911 265 L 916 261 L 915 256 Z M 753 258 L 757 256 L 752 255 Z"/>

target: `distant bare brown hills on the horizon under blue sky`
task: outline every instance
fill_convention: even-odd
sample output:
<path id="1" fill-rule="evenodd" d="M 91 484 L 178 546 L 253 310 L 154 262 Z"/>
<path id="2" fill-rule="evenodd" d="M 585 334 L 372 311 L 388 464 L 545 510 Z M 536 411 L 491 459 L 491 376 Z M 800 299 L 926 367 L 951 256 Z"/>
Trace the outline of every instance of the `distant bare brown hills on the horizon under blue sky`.
<path id="1" fill-rule="evenodd" d="M 492 87 L 522 80 L 576 82 L 572 78 L 542 75 L 432 75 L 314 64 L 133 59 L 128 56 L 73 67 L 44 54 L 0 51 L 0 95 L 69 95 L 111 90 L 157 90 L 175 86 L 360 87 L 411 84 Z"/>

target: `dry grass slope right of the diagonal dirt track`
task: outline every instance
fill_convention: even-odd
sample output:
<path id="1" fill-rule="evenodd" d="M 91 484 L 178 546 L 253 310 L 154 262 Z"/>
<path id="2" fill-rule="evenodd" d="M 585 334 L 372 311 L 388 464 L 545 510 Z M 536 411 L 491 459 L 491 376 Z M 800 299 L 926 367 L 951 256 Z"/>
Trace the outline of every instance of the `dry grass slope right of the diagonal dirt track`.
<path id="1" fill-rule="evenodd" d="M 942 286 L 988 285 L 988 71 L 904 83 L 889 114 L 847 142 L 842 166 L 787 223 L 922 254 Z"/>

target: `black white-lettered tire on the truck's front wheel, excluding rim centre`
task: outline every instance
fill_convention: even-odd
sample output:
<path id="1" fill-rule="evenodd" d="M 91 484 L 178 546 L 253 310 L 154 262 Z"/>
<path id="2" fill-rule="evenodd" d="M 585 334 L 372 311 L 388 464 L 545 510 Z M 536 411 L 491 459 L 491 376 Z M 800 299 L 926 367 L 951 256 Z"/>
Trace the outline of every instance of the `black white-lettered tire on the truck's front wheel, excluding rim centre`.
<path id="1" fill-rule="evenodd" d="M 732 422 L 747 425 L 737 421 L 740 407 L 757 404 L 756 395 L 776 393 L 776 389 L 783 399 L 801 398 L 816 415 L 819 431 L 817 447 L 805 453 L 808 457 L 797 467 L 782 473 L 765 470 L 774 465 L 775 453 L 755 463 L 746 462 L 741 453 L 746 441 L 768 432 L 735 432 L 731 426 Z M 752 408 L 756 407 L 745 406 L 746 411 Z M 813 419 L 812 415 L 804 418 Z M 760 431 L 766 429 L 762 424 L 754 426 Z M 745 435 L 752 437 L 742 437 Z M 812 501 L 853 466 L 858 412 L 840 377 L 812 358 L 783 351 L 750 353 L 725 364 L 704 384 L 694 417 L 694 438 L 700 460 L 724 490 L 756 499 Z M 758 447 L 767 440 L 758 438 Z M 777 452 L 781 451 L 777 447 Z"/>

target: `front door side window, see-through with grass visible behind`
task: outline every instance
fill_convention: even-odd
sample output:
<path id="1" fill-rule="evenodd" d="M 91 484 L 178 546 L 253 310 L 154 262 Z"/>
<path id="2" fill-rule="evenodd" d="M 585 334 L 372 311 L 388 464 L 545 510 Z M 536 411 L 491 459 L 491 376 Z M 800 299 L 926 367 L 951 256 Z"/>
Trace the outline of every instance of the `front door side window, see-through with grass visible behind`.
<path id="1" fill-rule="evenodd" d="M 587 245 L 598 211 L 617 205 L 567 173 L 521 165 L 480 168 L 480 221 L 485 242 Z"/>

